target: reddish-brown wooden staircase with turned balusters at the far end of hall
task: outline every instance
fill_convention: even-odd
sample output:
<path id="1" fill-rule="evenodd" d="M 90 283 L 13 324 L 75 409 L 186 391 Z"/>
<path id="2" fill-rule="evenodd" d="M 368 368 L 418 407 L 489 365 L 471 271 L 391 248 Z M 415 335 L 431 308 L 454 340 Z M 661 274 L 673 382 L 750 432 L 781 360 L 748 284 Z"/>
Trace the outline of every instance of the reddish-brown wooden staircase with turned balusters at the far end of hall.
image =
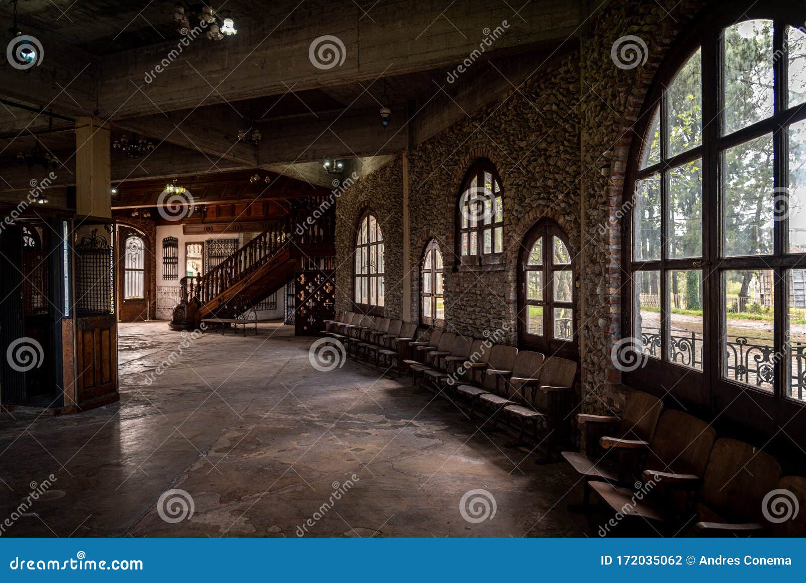
<path id="1" fill-rule="evenodd" d="M 231 318 L 237 305 L 240 312 L 260 304 L 293 279 L 305 258 L 332 257 L 335 244 L 332 213 L 323 224 L 307 229 L 305 224 L 317 200 L 297 205 L 286 220 L 272 222 L 267 229 L 201 277 L 180 281 L 181 303 L 173 309 L 172 329 L 197 328 L 202 318 Z M 318 221 L 318 223 L 320 222 Z M 329 228 L 330 227 L 330 228 Z"/>

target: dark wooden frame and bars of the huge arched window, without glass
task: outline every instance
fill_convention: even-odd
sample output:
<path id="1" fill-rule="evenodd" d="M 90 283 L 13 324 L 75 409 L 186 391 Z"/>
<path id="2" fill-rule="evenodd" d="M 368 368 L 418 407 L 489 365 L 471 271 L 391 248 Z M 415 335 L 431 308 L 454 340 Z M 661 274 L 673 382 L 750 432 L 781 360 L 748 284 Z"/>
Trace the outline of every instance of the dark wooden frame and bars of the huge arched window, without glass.
<path id="1" fill-rule="evenodd" d="M 785 29 L 787 26 L 799 27 L 806 19 L 806 10 L 796 8 L 795 4 L 785 3 L 775 8 L 754 6 L 750 10 L 742 10 L 729 2 L 711 6 L 704 10 L 695 26 L 690 27 L 685 36 L 672 48 L 664 62 L 654 84 L 647 93 L 642 114 L 635 127 L 635 134 L 642 139 L 634 139 L 625 177 L 624 205 L 631 205 L 634 200 L 637 180 L 659 174 L 661 180 L 661 243 L 662 252 L 659 260 L 640 261 L 634 258 L 634 217 L 633 213 L 625 213 L 622 219 L 621 250 L 623 258 L 625 285 L 622 290 L 622 333 L 621 337 L 634 335 L 633 306 L 636 300 L 633 275 L 637 271 L 660 271 L 660 298 L 662 304 L 660 357 L 646 358 L 642 366 L 635 370 L 622 372 L 622 380 L 634 387 L 653 392 L 655 395 L 671 396 L 672 403 L 689 403 L 704 416 L 719 417 L 721 424 L 731 427 L 751 428 L 762 435 L 773 435 L 800 411 L 804 402 L 788 398 L 785 395 L 788 372 L 788 358 L 779 358 L 774 363 L 775 381 L 773 391 L 756 388 L 749 384 L 722 377 L 724 355 L 722 354 L 721 336 L 725 331 L 725 320 L 722 317 L 724 295 L 722 276 L 725 271 L 733 270 L 769 270 L 774 273 L 774 354 L 782 354 L 787 333 L 787 271 L 793 267 L 806 265 L 806 254 L 790 253 L 787 250 L 788 221 L 775 220 L 773 229 L 772 254 L 749 255 L 745 257 L 725 257 L 722 249 L 722 212 L 724 200 L 721 192 L 721 153 L 729 147 L 747 143 L 759 136 L 772 134 L 775 159 L 773 172 L 774 187 L 786 188 L 787 173 L 787 134 L 788 126 L 806 119 L 806 103 L 783 106 L 787 100 L 787 59 L 775 57 L 772 60 L 775 76 L 774 111 L 760 122 L 755 122 L 731 134 L 721 135 L 723 117 L 721 114 L 722 86 L 722 54 L 721 39 L 725 27 L 748 20 L 772 20 L 773 54 L 786 55 L 784 52 Z M 664 126 L 667 123 L 665 89 L 671 85 L 675 74 L 688 61 L 688 58 L 701 50 L 702 59 L 702 143 L 683 153 L 668 156 L 667 144 L 663 139 Z M 639 169 L 642 156 L 642 145 L 650 131 L 654 110 L 660 107 L 661 156 L 660 162 Z M 714 122 L 709 122 L 714 120 Z M 663 176 L 671 168 L 693 159 L 702 159 L 702 198 L 703 198 L 703 243 L 701 258 L 668 258 L 667 257 L 667 185 Z M 631 206 L 625 206 L 631 209 Z M 701 269 L 703 300 L 703 355 L 702 370 L 692 369 L 671 362 L 668 358 L 668 277 L 670 271 Z M 762 412 L 763 411 L 763 412 Z M 793 424 L 794 425 L 794 424 Z M 787 431 L 795 439 L 806 439 L 806 424 Z"/>

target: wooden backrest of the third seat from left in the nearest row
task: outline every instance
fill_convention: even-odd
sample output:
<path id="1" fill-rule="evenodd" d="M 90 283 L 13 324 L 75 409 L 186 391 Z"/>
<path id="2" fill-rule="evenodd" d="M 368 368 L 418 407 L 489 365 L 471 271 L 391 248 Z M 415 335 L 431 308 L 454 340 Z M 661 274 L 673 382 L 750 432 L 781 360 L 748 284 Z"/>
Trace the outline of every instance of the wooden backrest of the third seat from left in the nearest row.
<path id="1" fill-rule="evenodd" d="M 720 437 L 708 457 L 700 503 L 732 523 L 764 524 L 762 500 L 780 479 L 781 466 L 770 454 Z"/>

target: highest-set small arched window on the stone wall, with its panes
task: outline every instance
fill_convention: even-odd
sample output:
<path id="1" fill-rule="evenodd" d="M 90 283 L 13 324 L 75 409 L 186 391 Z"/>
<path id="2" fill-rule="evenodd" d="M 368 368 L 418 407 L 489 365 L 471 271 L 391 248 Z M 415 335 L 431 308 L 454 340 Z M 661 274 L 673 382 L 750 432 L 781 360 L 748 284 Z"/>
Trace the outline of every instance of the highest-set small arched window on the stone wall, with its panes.
<path id="1" fill-rule="evenodd" d="M 480 160 L 464 177 L 456 207 L 456 255 L 467 266 L 504 261 L 504 191 L 496 167 Z"/>

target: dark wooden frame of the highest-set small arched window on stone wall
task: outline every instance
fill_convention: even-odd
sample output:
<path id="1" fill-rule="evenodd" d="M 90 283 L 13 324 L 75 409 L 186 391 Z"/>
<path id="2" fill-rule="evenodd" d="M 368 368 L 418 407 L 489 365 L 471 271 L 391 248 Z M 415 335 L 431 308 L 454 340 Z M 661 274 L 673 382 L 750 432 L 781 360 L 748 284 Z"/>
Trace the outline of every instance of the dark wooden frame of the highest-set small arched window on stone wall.
<path id="1" fill-rule="evenodd" d="M 484 184 L 485 172 L 489 172 L 492 176 L 492 200 L 490 201 L 492 216 L 489 217 L 490 221 L 488 223 L 485 223 L 484 212 L 473 214 L 474 211 L 472 207 L 468 206 L 474 203 L 480 204 L 479 200 L 484 200 L 484 198 L 488 196 L 484 192 L 481 193 L 480 197 L 476 196 L 476 193 L 480 191 L 474 191 L 472 187 L 474 179 L 476 179 L 476 185 Z M 496 192 L 496 186 L 498 187 L 498 192 Z M 483 187 L 476 186 L 476 188 Z M 462 180 L 462 187 L 459 188 L 459 194 L 456 198 L 455 256 L 458 266 L 466 269 L 476 269 L 485 266 L 504 266 L 504 196 L 504 183 L 501 181 L 501 176 L 498 175 L 495 165 L 488 159 L 480 159 L 472 163 L 471 167 L 468 168 L 465 173 Z M 499 203 L 497 199 L 501 200 L 501 220 L 498 220 Z M 476 225 L 472 225 L 474 222 L 473 217 L 479 216 L 479 214 L 481 218 L 476 221 Z M 487 229 L 491 231 L 491 251 L 489 253 L 484 252 L 484 231 Z M 467 235 L 467 254 L 464 254 L 465 235 Z M 499 237 L 501 238 L 501 251 L 496 252 L 496 243 Z M 470 254 L 473 238 L 476 238 L 476 254 Z"/>

